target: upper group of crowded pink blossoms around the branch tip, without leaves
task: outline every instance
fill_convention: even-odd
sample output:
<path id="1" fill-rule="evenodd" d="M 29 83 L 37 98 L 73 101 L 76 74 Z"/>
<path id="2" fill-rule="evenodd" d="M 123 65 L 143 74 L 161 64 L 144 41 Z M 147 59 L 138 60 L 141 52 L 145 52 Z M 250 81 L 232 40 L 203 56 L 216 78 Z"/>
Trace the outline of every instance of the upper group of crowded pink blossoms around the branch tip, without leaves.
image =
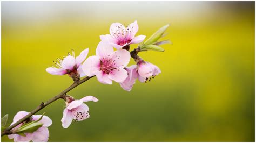
<path id="1" fill-rule="evenodd" d="M 146 38 L 145 35 L 135 36 L 138 30 L 137 21 L 126 27 L 113 23 L 110 34 L 100 35 L 101 41 L 96 48 L 96 55 L 86 59 L 88 48 L 77 57 L 72 51 L 72 55 L 69 54 L 63 60 L 58 58 L 56 67 L 49 67 L 46 71 L 52 75 L 96 76 L 103 84 L 112 84 L 115 81 L 124 90 L 130 91 L 137 78 L 140 82 L 145 82 L 161 73 L 156 65 L 145 62 L 142 58 L 139 58 L 137 65 L 127 67 L 131 59 L 130 44 L 140 43 Z"/>

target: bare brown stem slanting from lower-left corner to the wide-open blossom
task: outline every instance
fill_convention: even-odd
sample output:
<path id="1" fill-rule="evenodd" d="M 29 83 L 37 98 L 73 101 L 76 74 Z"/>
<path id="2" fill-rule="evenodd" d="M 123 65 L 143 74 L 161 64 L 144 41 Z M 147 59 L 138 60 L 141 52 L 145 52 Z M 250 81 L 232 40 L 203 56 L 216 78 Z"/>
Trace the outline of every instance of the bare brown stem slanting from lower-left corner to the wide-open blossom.
<path id="1" fill-rule="evenodd" d="M 58 99 L 62 99 L 66 93 L 68 93 L 70 90 L 76 88 L 78 85 L 84 83 L 85 81 L 89 80 L 90 78 L 92 78 L 94 76 L 87 76 L 85 78 L 83 78 L 83 80 L 80 80 L 78 82 L 74 82 L 72 85 L 70 85 L 70 87 L 66 88 L 65 90 L 63 90 L 62 92 L 60 92 L 57 96 L 49 99 L 47 102 L 45 103 L 41 103 L 39 106 L 37 106 L 36 109 L 34 109 L 33 111 L 31 111 L 28 115 L 26 115 L 25 117 L 23 117 L 22 119 L 20 119 L 19 121 L 17 121 L 16 123 L 12 124 L 11 126 L 9 126 L 8 128 L 6 128 L 2 133 L 1 136 L 6 135 L 6 134 L 13 134 L 14 132 L 11 131 L 12 128 L 16 127 L 17 125 L 23 123 L 23 121 L 29 119 L 32 115 L 35 115 L 35 113 L 37 113 L 38 111 L 42 110 L 43 108 L 45 108 L 47 105 L 57 101 Z"/>

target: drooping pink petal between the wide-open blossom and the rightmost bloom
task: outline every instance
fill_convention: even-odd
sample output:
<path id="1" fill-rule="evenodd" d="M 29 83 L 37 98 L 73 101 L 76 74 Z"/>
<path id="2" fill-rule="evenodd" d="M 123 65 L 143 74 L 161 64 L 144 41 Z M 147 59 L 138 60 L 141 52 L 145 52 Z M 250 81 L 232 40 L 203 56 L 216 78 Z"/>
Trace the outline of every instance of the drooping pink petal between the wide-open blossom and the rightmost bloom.
<path id="1" fill-rule="evenodd" d="M 128 77 L 124 82 L 120 83 L 121 87 L 126 91 L 131 91 L 133 84 L 135 84 L 136 79 L 139 74 L 136 70 L 136 65 L 132 65 L 130 67 L 126 67 L 125 70 L 128 72 Z"/>

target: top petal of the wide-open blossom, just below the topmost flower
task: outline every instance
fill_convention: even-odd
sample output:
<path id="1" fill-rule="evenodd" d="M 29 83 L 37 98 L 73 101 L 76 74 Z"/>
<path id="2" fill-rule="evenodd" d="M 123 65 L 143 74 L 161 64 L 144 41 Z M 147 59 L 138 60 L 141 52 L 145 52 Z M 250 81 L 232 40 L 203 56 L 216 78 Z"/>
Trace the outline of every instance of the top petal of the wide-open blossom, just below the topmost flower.
<path id="1" fill-rule="evenodd" d="M 100 41 L 96 48 L 96 55 L 99 56 L 99 58 L 110 56 L 113 52 L 114 49 L 112 45 L 105 41 Z"/>

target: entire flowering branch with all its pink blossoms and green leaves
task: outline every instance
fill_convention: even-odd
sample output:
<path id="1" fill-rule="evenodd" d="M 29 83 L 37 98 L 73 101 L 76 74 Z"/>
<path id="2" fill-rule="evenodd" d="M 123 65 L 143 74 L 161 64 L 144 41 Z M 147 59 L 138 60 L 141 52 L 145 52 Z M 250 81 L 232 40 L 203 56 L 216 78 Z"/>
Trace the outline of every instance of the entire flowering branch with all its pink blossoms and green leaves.
<path id="1" fill-rule="evenodd" d="M 163 37 L 168 26 L 161 27 L 142 43 L 146 36 L 135 36 L 138 31 L 137 21 L 126 27 L 120 23 L 113 23 L 110 26 L 110 34 L 100 35 L 101 41 L 96 48 L 96 55 L 86 59 L 89 52 L 89 48 L 86 48 L 78 56 L 75 56 L 75 52 L 72 50 L 72 55 L 69 53 L 63 59 L 57 58 L 56 61 L 53 61 L 55 66 L 46 68 L 46 71 L 52 75 L 69 75 L 74 83 L 47 102 L 42 102 L 31 112 L 19 111 L 9 127 L 5 127 L 8 117 L 3 117 L 1 135 L 8 135 L 14 141 L 48 141 L 47 127 L 52 124 L 52 121 L 48 116 L 35 115 L 35 113 L 58 99 L 64 99 L 66 103 L 61 119 L 63 128 L 68 128 L 72 121 L 89 118 L 89 107 L 84 102 L 97 102 L 98 99 L 93 96 L 75 99 L 66 93 L 94 76 L 103 84 L 112 84 L 112 81 L 115 81 L 126 91 L 132 89 L 137 79 L 140 82 L 150 82 L 161 73 L 161 70 L 156 65 L 144 61 L 138 56 L 138 53 L 148 50 L 164 52 L 159 45 L 170 41 L 158 41 L 158 39 Z M 130 44 L 136 43 L 141 44 L 130 52 Z M 116 48 L 116 51 L 113 47 Z M 136 65 L 127 67 L 131 58 L 134 59 Z M 84 76 L 86 77 L 80 80 L 80 77 Z"/>

